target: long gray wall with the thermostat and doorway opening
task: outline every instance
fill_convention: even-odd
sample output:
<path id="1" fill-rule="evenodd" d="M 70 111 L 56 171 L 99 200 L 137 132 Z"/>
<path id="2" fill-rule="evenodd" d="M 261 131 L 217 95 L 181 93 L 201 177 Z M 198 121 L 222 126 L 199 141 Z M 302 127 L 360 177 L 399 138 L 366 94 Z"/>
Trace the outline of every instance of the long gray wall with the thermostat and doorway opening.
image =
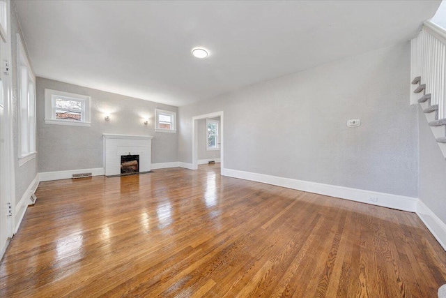
<path id="1" fill-rule="evenodd" d="M 223 110 L 226 168 L 417 197 L 408 82 L 403 43 L 180 107 L 179 159 L 192 162 L 192 117 Z"/>

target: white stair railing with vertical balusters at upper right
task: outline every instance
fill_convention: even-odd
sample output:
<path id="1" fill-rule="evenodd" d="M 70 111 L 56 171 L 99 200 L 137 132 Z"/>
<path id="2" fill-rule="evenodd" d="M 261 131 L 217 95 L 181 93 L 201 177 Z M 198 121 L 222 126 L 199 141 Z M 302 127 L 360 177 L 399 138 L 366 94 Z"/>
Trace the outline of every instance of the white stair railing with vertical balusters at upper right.
<path id="1" fill-rule="evenodd" d="M 424 22 L 419 35 L 412 40 L 411 50 L 411 80 L 421 77 L 420 84 L 426 84 L 424 94 L 431 94 L 431 105 L 438 105 L 438 119 L 445 119 L 446 30 L 433 22 Z M 413 94 L 411 103 L 418 98 L 420 94 Z"/>

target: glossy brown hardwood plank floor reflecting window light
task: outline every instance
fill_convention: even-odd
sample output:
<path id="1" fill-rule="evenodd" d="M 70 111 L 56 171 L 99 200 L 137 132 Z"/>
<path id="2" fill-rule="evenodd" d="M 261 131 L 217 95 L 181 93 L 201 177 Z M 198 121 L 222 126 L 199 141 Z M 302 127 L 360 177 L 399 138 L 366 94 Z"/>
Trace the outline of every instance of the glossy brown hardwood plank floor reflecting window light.
<path id="1" fill-rule="evenodd" d="M 436 297 L 445 283 L 415 214 L 218 166 L 41 183 L 0 297 Z"/>

